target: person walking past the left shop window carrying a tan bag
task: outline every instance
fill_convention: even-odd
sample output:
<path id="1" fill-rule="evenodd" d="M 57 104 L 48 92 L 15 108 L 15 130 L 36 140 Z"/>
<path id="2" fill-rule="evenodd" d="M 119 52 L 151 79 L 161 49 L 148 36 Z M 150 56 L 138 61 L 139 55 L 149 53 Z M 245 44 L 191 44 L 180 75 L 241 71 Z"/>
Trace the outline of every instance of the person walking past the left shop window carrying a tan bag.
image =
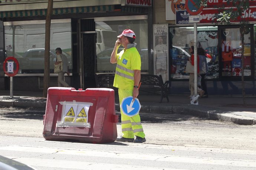
<path id="1" fill-rule="evenodd" d="M 55 68 L 54 73 L 58 73 L 58 86 L 59 87 L 70 87 L 65 81 L 64 81 L 64 74 L 67 73 L 69 75 L 68 70 L 68 59 L 67 57 L 62 54 L 61 48 L 55 49 L 57 58 L 55 62 Z"/>

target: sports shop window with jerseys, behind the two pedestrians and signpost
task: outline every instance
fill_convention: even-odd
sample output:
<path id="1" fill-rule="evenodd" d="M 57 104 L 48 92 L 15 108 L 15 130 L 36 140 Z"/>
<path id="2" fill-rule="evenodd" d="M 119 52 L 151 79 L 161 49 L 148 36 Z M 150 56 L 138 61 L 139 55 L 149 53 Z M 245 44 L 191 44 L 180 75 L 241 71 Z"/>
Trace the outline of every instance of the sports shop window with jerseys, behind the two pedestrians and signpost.
<path id="1" fill-rule="evenodd" d="M 170 32 L 170 73 L 173 79 L 188 79 L 185 72 L 188 49 L 194 46 L 194 27 L 172 27 Z M 208 72 L 206 79 L 219 77 L 218 28 L 214 26 L 197 27 L 197 48 L 203 48 L 206 54 Z"/>

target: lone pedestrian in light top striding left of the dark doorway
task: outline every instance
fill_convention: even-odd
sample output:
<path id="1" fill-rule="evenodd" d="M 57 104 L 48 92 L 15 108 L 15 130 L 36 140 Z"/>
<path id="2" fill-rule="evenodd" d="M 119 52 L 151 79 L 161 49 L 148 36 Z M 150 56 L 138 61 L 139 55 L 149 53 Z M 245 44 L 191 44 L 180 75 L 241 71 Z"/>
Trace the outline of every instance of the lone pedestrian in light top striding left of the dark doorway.
<path id="1" fill-rule="evenodd" d="M 57 54 L 57 59 L 56 59 L 56 62 L 55 62 L 55 65 L 56 64 L 59 64 L 60 62 L 63 62 L 63 69 L 62 71 L 60 71 L 58 73 L 58 86 L 59 87 L 70 87 L 65 81 L 64 81 L 64 74 L 67 73 L 69 75 L 69 68 L 68 68 L 68 59 L 67 57 L 62 54 L 62 50 L 61 48 L 56 48 L 55 49 L 56 51 L 56 54 Z"/>

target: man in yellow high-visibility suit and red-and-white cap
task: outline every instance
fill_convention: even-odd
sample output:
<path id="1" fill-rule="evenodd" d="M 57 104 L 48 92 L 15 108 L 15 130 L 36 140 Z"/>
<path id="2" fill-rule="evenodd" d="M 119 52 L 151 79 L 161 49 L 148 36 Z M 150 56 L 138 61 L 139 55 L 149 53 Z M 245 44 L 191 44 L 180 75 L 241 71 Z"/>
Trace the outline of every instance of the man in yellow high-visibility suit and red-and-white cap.
<path id="1" fill-rule="evenodd" d="M 118 88 L 120 105 L 122 100 L 128 96 L 133 96 L 133 100 L 139 95 L 139 83 L 141 79 L 141 58 L 134 43 L 136 35 L 132 30 L 124 30 L 118 35 L 114 50 L 111 54 L 111 63 L 116 64 L 114 86 Z M 124 50 L 117 54 L 117 50 L 122 45 Z M 122 136 L 117 137 L 118 142 L 145 142 L 145 133 L 141 125 L 140 115 L 129 117 L 121 110 Z M 136 137 L 134 139 L 134 136 Z"/>

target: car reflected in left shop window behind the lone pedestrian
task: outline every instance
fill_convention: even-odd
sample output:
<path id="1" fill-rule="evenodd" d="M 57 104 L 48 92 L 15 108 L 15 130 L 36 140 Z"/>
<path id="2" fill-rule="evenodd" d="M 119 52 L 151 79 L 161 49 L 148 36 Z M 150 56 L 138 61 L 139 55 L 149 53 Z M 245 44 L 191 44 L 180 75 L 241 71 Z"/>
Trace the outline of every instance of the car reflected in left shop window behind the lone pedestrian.
<path id="1" fill-rule="evenodd" d="M 69 62 L 69 69 L 72 69 L 71 55 L 63 51 L 62 51 L 62 54 L 66 55 Z M 28 60 L 25 69 L 22 69 L 22 73 L 43 73 L 45 69 L 45 66 L 44 66 L 45 49 L 44 48 L 34 48 L 34 49 L 27 50 L 22 57 Z M 54 63 L 56 62 L 56 58 L 57 58 L 57 55 L 55 54 L 55 49 L 50 49 L 50 73 L 53 73 Z"/>

